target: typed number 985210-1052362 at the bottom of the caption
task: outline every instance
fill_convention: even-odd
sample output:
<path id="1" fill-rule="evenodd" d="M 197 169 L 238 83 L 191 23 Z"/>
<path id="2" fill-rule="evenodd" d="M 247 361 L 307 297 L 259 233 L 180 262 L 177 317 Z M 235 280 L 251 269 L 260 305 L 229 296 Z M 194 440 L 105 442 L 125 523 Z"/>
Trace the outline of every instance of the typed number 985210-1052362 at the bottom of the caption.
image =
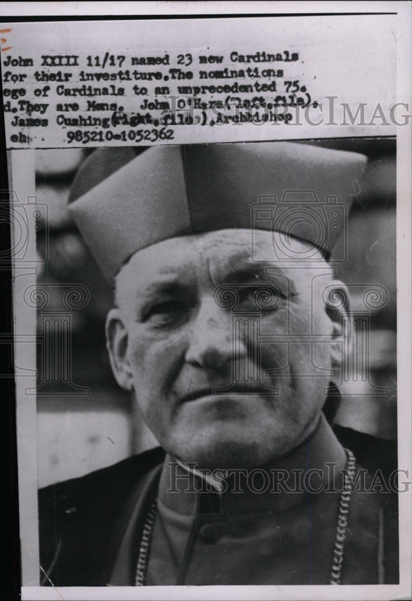
<path id="1" fill-rule="evenodd" d="M 174 139 L 174 131 L 170 128 L 150 128 L 150 129 L 129 129 L 113 133 L 110 129 L 105 131 L 94 130 L 82 131 L 80 129 L 67 132 L 67 141 L 69 144 L 78 142 L 80 144 L 89 144 L 93 142 L 110 142 L 110 141 L 131 141 L 131 142 L 155 142 L 157 140 L 172 140 Z"/>

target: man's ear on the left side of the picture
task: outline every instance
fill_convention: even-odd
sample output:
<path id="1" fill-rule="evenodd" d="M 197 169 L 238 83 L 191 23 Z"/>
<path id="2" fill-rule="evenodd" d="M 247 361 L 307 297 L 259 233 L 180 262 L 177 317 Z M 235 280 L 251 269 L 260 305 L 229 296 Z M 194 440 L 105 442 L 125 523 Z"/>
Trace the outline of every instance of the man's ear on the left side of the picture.
<path id="1" fill-rule="evenodd" d="M 122 313 L 117 308 L 111 309 L 106 317 L 106 348 L 117 383 L 125 390 L 132 390 L 132 372 L 127 354 L 128 332 Z"/>

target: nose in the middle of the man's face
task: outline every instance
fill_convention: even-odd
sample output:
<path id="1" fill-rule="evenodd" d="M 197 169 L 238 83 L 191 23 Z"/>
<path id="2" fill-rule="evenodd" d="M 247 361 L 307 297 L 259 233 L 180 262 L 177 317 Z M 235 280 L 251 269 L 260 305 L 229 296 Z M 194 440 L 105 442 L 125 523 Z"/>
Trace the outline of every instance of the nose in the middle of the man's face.
<path id="1" fill-rule="evenodd" d="M 246 354 L 244 340 L 233 330 L 230 311 L 219 307 L 213 298 L 202 302 L 190 328 L 187 363 L 205 370 L 227 369 Z"/>

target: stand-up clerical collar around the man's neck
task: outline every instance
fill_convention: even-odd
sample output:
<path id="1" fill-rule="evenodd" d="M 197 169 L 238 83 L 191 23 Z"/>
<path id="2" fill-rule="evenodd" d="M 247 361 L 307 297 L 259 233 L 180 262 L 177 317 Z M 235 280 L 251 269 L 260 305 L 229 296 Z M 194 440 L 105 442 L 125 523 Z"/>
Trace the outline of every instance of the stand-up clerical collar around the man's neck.
<path id="1" fill-rule="evenodd" d="M 314 432 L 272 464 L 252 470 L 199 470 L 166 455 L 159 506 L 180 514 L 284 510 L 308 495 L 341 490 L 345 451 L 323 415 Z"/>

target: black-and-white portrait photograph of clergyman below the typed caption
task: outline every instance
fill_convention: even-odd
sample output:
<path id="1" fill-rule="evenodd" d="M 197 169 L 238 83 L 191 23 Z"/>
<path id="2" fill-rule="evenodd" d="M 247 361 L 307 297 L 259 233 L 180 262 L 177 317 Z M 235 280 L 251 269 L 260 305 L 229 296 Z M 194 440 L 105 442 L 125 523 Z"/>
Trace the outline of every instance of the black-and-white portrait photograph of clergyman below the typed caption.
<path id="1" fill-rule="evenodd" d="M 393 142 L 80 163 L 36 288 L 39 477 L 64 480 L 40 491 L 45 585 L 397 582 Z M 141 420 L 155 449 L 76 477 L 139 451 Z"/>

